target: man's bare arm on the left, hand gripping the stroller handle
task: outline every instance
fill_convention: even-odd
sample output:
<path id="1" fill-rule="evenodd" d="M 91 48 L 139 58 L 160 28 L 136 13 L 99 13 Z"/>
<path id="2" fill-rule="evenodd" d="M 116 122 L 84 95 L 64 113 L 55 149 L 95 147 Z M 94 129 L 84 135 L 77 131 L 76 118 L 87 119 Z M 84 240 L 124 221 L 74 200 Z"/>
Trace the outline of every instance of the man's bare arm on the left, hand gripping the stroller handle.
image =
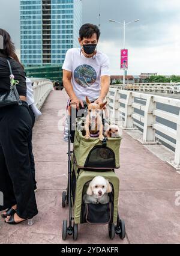
<path id="1" fill-rule="evenodd" d="M 65 88 L 65 91 L 67 92 L 68 96 L 71 99 L 71 105 L 79 109 L 79 103 L 81 103 L 81 105 L 83 106 L 83 102 L 77 99 L 76 94 L 74 93 L 74 90 L 73 90 L 73 85 L 71 84 L 71 78 L 72 78 L 72 72 L 64 69 L 62 82 Z"/>

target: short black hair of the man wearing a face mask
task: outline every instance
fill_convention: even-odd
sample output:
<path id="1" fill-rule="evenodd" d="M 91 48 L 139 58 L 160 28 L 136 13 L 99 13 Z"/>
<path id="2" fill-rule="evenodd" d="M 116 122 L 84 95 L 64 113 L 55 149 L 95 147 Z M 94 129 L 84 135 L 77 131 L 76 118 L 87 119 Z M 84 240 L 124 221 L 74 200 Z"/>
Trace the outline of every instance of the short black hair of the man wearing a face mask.
<path id="1" fill-rule="evenodd" d="M 99 40 L 101 34 L 100 29 L 98 26 L 90 23 L 82 25 L 82 27 L 79 29 L 79 37 L 81 40 L 83 40 L 84 37 L 91 38 L 94 33 L 97 34 L 97 40 Z"/>

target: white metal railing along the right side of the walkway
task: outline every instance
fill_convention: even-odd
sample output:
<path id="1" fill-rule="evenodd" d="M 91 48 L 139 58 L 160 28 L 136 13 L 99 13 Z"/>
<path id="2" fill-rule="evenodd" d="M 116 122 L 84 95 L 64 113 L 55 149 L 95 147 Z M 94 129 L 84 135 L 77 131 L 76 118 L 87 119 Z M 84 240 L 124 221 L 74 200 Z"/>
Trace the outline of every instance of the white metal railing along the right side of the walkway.
<path id="1" fill-rule="evenodd" d="M 180 168 L 179 99 L 110 87 L 106 100 L 110 120 L 115 120 L 115 122 L 121 120 L 122 128 L 124 129 L 134 129 L 136 126 L 143 130 L 142 142 L 144 144 L 151 144 L 157 141 L 157 139 L 160 139 L 175 148 L 175 159 L 172 164 L 176 169 Z M 167 112 L 167 108 L 163 111 L 157 108 L 157 103 L 163 103 L 169 106 L 169 108 L 170 106 L 176 107 L 176 112 L 179 111 L 179 114 Z M 172 129 L 166 124 L 159 123 L 157 117 L 175 123 L 176 129 Z M 158 135 L 157 131 L 163 133 L 165 136 Z M 169 137 L 172 139 L 169 140 Z M 176 142 L 173 142 L 173 140 Z"/>

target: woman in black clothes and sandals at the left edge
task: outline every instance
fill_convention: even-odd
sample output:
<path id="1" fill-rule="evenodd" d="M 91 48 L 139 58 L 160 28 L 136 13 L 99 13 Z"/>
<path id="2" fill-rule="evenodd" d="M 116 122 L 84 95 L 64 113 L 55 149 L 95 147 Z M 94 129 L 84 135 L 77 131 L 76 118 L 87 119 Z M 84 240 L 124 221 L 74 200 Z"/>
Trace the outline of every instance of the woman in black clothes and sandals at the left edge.
<path id="1" fill-rule="evenodd" d="M 26 103 L 25 72 L 4 29 L 0 29 L 0 40 L 0 95 L 10 90 L 8 59 L 22 100 L 21 106 L 0 108 L 0 191 L 4 197 L 0 211 L 7 209 L 1 215 L 6 223 L 19 224 L 38 213 L 28 151 L 32 119 Z"/>

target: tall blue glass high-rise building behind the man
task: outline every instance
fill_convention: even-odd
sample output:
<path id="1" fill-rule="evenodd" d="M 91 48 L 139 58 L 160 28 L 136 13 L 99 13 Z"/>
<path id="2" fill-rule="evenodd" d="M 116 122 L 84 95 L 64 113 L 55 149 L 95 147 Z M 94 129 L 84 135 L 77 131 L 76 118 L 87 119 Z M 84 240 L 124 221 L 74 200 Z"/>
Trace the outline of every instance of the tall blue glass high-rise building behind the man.
<path id="1" fill-rule="evenodd" d="M 25 66 L 62 64 L 79 47 L 81 0 L 20 0 L 21 61 Z"/>

